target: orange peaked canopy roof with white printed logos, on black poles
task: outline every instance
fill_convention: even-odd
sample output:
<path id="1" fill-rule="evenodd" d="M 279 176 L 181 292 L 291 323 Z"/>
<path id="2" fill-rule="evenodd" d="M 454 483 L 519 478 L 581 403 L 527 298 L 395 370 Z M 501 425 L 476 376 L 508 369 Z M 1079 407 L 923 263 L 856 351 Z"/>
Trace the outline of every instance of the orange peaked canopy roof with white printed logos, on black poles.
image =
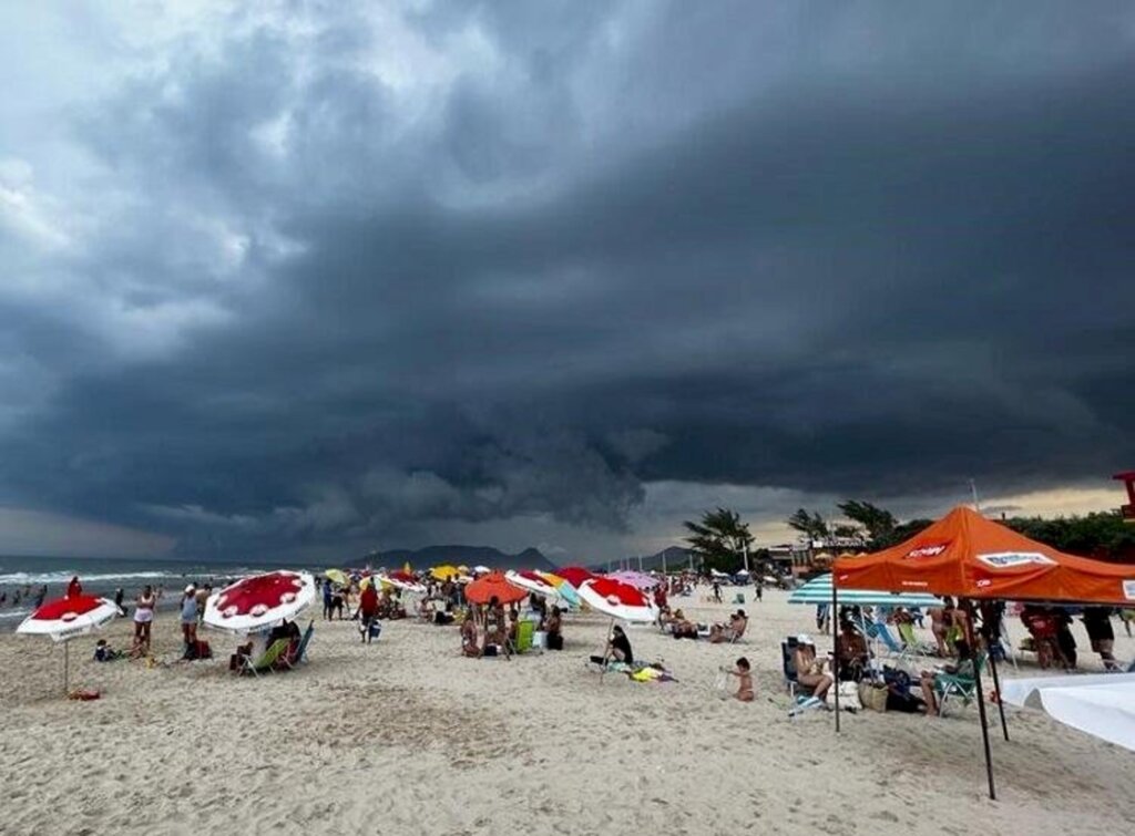
<path id="1" fill-rule="evenodd" d="M 835 561 L 839 589 L 1130 606 L 1135 566 L 1066 555 L 958 507 L 893 548 Z"/>

